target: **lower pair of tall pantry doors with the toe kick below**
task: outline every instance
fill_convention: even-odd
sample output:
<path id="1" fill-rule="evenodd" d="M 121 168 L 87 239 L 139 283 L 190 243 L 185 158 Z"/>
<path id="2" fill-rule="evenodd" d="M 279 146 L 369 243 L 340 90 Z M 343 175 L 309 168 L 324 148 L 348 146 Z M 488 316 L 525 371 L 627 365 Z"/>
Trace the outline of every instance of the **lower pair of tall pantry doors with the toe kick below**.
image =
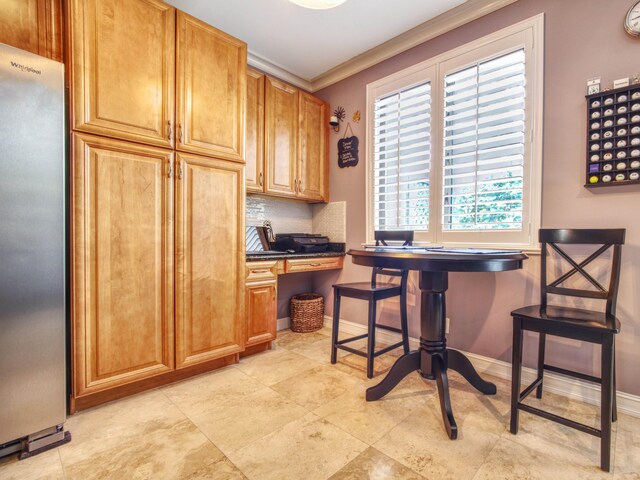
<path id="1" fill-rule="evenodd" d="M 72 141 L 71 410 L 237 362 L 243 166 Z"/>

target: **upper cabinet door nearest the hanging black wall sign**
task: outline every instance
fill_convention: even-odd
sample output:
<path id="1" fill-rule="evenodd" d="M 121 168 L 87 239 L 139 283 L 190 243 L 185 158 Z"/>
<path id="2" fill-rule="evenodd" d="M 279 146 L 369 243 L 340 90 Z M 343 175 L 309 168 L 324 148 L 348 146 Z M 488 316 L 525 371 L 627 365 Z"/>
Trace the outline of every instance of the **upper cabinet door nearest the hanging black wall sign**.
<path id="1" fill-rule="evenodd" d="M 319 98 L 300 92 L 298 195 L 305 200 L 328 201 L 328 110 Z"/>

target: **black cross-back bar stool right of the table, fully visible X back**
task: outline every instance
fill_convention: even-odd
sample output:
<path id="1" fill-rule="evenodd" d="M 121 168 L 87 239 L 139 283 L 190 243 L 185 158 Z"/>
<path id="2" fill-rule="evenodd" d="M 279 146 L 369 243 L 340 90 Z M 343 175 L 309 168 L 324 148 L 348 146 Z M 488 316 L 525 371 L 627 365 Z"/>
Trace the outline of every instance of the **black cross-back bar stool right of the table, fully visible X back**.
<path id="1" fill-rule="evenodd" d="M 609 471 L 611 464 L 611 422 L 616 421 L 616 383 L 615 383 L 615 335 L 620 331 L 620 321 L 615 316 L 618 284 L 620 283 L 620 258 L 624 244 L 625 229 L 603 230 L 558 230 L 541 229 L 539 233 L 542 245 L 540 275 L 540 305 L 531 305 L 511 312 L 513 316 L 513 369 L 511 385 L 511 433 L 518 433 L 518 413 L 520 410 L 575 428 L 600 438 L 600 467 Z M 565 245 L 598 245 L 596 250 L 585 259 L 578 261 L 566 252 Z M 586 268 L 610 248 L 611 266 L 609 285 L 604 287 Z M 566 262 L 570 269 L 555 280 L 547 281 L 547 257 L 553 249 Z M 578 289 L 562 284 L 579 275 L 586 279 L 589 289 Z M 571 297 L 605 300 L 604 312 L 578 308 L 549 305 L 549 294 Z M 523 330 L 539 333 L 538 368 L 536 380 L 520 392 L 522 368 Z M 566 370 L 545 363 L 545 342 L 547 335 L 572 338 L 599 344 L 602 347 L 601 376 L 594 377 L 584 373 Z M 522 401 L 534 390 L 536 397 L 542 398 L 544 372 L 550 371 L 580 378 L 601 385 L 600 429 L 575 422 L 565 417 L 525 405 Z"/>

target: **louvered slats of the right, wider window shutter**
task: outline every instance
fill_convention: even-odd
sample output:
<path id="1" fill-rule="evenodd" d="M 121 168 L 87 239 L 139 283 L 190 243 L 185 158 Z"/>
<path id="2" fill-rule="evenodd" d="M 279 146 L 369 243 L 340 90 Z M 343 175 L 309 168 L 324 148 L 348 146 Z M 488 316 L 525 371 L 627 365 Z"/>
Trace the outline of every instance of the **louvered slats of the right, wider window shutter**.
<path id="1" fill-rule="evenodd" d="M 444 77 L 442 228 L 521 230 L 523 49 Z"/>

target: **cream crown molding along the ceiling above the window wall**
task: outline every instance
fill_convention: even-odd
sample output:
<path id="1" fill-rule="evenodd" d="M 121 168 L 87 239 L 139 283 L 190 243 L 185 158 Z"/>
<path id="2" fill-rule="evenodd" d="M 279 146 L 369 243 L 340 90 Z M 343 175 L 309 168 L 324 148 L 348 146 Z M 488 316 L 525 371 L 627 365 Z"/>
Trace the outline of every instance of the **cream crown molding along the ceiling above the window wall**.
<path id="1" fill-rule="evenodd" d="M 310 82 L 303 79 L 300 80 L 309 84 L 309 90 L 311 92 L 321 90 L 399 53 L 409 50 L 416 45 L 420 45 L 507 5 L 511 5 L 516 1 L 517 0 L 467 0 L 462 5 L 444 12 L 377 47 L 353 57 L 351 60 L 347 60 L 327 70 L 325 73 L 313 78 Z"/>

